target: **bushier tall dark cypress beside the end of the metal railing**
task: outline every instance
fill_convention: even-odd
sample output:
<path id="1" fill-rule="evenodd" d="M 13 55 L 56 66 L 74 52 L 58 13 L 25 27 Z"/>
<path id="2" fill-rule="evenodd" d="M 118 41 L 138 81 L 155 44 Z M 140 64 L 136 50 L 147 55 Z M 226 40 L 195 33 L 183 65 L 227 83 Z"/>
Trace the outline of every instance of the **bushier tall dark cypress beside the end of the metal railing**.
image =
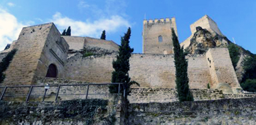
<path id="1" fill-rule="evenodd" d="M 129 57 L 133 52 L 133 49 L 129 47 L 129 38 L 131 36 L 131 28 L 128 28 L 127 33 L 124 34 L 124 37 L 121 37 L 121 46 L 119 46 L 119 52 L 116 57 L 116 61 L 113 61 L 113 68 L 114 71 L 112 73 L 112 83 L 123 83 L 121 86 L 121 92 L 125 89 L 125 95 L 129 95 L 130 93 L 130 86 L 132 84 L 139 84 L 135 81 L 130 81 L 129 78 Z M 111 85 L 110 86 L 111 93 L 118 92 L 118 85 Z"/>

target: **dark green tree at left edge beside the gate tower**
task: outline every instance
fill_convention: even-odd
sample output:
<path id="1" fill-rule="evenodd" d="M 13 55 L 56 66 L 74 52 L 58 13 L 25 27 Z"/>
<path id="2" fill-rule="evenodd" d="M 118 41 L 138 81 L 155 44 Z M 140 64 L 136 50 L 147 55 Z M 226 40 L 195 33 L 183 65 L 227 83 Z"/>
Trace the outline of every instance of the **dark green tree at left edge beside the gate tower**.
<path id="1" fill-rule="evenodd" d="M 17 52 L 17 49 L 13 49 L 11 52 L 7 54 L 6 57 L 4 57 L 3 60 L 0 62 L 0 83 L 4 81 L 5 74 L 4 71 L 7 70 L 7 68 L 10 65 L 10 62 L 12 61 L 13 56 Z"/>

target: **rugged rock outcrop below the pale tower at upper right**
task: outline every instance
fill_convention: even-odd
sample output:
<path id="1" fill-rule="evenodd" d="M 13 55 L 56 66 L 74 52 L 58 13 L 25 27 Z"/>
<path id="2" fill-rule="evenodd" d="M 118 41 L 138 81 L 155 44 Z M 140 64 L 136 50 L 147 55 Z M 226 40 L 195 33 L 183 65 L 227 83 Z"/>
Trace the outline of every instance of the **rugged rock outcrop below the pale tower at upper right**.
<path id="1" fill-rule="evenodd" d="M 192 55 L 204 54 L 209 48 L 227 47 L 228 40 L 216 32 L 209 32 L 201 27 L 196 28 L 194 36 L 190 40 L 186 51 Z"/>

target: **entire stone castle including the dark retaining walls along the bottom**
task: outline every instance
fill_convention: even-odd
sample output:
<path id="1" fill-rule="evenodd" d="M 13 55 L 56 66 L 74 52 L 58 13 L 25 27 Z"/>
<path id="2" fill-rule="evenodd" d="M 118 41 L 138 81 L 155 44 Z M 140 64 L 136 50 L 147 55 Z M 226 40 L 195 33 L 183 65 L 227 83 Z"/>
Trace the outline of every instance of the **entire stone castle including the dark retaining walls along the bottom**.
<path id="1" fill-rule="evenodd" d="M 256 94 L 242 91 L 227 49 L 230 41 L 208 15 L 190 25 L 192 35 L 181 43 L 189 52 L 189 89 L 195 102 L 178 102 L 171 28 L 178 36 L 175 18 L 143 20 L 143 53 L 132 54 L 129 70 L 140 86 L 132 86 L 127 107 L 121 94 L 95 86 L 110 83 L 118 44 L 61 36 L 53 23 L 23 28 L 10 49 L 0 52 L 2 60 L 18 49 L 0 86 L 55 86 L 48 89 L 48 102 L 31 101 L 46 93 L 43 87 L 5 87 L 5 94 L 0 87 L 4 100 L 31 93 L 29 102 L 0 100 L 0 124 L 255 124 Z"/>

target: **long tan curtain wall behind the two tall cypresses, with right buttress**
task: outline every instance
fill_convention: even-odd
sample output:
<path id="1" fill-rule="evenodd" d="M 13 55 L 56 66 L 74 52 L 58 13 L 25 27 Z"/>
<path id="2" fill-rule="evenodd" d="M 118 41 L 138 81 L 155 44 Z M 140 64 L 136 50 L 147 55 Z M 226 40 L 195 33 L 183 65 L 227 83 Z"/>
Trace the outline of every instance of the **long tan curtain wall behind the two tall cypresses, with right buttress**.
<path id="1" fill-rule="evenodd" d="M 227 49 L 216 48 L 211 49 L 211 52 L 208 52 L 207 55 L 187 57 L 191 89 L 207 89 L 207 84 L 214 86 L 212 82 L 221 83 L 223 80 L 228 81 L 230 85 L 232 84 L 231 87 L 235 87 L 237 84 L 236 74 L 230 58 L 227 58 L 228 56 Z M 83 58 L 82 55 L 70 57 L 65 67 L 65 78 L 95 83 L 110 83 L 113 60 L 116 60 L 116 55 L 86 58 Z M 214 68 L 213 64 L 217 68 Z M 218 70 L 212 70 L 210 67 Z M 129 76 L 132 80 L 137 81 L 141 87 L 175 88 L 173 55 L 132 54 Z"/>

